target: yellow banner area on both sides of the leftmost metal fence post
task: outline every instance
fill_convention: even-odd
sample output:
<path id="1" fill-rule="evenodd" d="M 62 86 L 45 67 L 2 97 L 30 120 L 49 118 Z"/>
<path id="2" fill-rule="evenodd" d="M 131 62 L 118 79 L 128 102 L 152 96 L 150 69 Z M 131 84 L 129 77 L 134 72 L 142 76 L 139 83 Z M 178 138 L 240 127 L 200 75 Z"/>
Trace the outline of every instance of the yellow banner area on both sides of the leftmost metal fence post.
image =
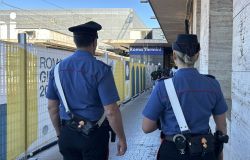
<path id="1" fill-rule="evenodd" d="M 25 134 L 28 145 L 37 139 L 37 68 L 36 57 L 28 54 L 28 105 L 27 133 L 25 131 L 24 49 L 7 45 L 7 159 L 12 160 L 25 151 Z"/>

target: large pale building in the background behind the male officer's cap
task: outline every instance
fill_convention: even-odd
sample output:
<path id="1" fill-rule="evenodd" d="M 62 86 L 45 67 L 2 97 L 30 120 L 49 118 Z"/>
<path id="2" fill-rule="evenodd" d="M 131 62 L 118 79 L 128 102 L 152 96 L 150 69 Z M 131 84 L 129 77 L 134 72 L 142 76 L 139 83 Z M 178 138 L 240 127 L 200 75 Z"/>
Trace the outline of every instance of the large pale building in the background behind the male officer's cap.
<path id="1" fill-rule="evenodd" d="M 0 20 L 8 20 L 13 10 L 1 10 Z M 83 24 L 87 21 L 96 21 L 102 25 L 99 31 L 99 40 L 129 39 L 130 30 L 147 28 L 136 12 L 129 8 L 92 8 L 72 11 L 63 10 L 30 10 L 14 11 L 17 15 L 17 28 L 45 28 L 68 35 L 72 35 L 68 28 Z"/>

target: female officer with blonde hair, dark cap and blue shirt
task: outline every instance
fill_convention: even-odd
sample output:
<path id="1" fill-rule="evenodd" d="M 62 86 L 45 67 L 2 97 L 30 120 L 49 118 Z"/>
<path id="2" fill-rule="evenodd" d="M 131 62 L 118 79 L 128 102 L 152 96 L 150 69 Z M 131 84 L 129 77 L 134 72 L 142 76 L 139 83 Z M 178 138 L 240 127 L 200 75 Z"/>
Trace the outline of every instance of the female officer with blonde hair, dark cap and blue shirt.
<path id="1" fill-rule="evenodd" d="M 199 135 L 209 137 L 211 135 L 209 128 L 211 115 L 213 115 L 215 120 L 216 130 L 226 134 L 225 114 L 228 107 L 220 85 L 213 77 L 201 75 L 194 68 L 194 63 L 198 59 L 200 50 L 196 35 L 178 35 L 172 48 L 173 59 L 179 68 L 172 81 L 178 95 L 181 110 L 189 127 L 189 132 L 182 133 L 179 128 L 164 80 L 159 81 L 145 106 L 142 129 L 145 133 L 153 132 L 157 129 L 157 120 L 161 120 L 162 132 L 166 135 L 166 138 L 159 149 L 158 159 L 160 160 L 216 159 L 214 152 L 201 152 L 201 155 L 191 155 L 190 153 L 193 151 L 188 145 L 193 145 L 189 141 L 192 137 Z M 179 134 L 184 136 L 184 140 L 187 140 L 184 141 L 185 146 L 182 150 L 177 149 L 180 146 L 177 146 L 179 144 L 173 139 Z M 202 151 L 212 147 L 209 138 L 201 138 L 200 140 L 202 142 L 198 143 L 204 143 L 201 146 L 201 148 L 203 147 Z M 220 155 L 220 159 L 223 159 L 222 155 Z"/>

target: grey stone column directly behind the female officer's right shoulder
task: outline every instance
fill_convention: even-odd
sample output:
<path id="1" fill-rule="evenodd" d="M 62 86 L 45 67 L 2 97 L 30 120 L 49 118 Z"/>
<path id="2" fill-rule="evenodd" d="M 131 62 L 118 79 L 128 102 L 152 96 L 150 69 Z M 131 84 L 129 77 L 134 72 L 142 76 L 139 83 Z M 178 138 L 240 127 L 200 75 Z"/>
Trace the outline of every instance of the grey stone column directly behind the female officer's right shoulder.
<path id="1" fill-rule="evenodd" d="M 214 75 L 220 82 L 229 106 L 227 116 L 229 135 L 232 108 L 232 8 L 232 0 L 201 0 L 200 72 Z M 230 147 L 231 144 L 225 145 L 225 159 L 230 159 Z"/>

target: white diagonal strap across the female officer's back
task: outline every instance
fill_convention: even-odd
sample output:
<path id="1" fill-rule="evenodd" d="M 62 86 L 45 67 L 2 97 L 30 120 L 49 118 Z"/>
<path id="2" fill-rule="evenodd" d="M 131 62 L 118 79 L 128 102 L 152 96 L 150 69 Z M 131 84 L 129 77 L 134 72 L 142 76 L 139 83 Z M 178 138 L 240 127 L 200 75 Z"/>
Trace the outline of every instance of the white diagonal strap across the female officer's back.
<path id="1" fill-rule="evenodd" d="M 164 83 L 165 83 L 165 88 L 167 90 L 170 103 L 174 111 L 174 115 L 176 117 L 176 120 L 180 127 L 181 132 L 187 132 L 187 131 L 189 132 L 190 130 L 188 128 L 187 122 L 183 115 L 181 105 L 177 97 L 172 78 L 164 80 Z"/>

